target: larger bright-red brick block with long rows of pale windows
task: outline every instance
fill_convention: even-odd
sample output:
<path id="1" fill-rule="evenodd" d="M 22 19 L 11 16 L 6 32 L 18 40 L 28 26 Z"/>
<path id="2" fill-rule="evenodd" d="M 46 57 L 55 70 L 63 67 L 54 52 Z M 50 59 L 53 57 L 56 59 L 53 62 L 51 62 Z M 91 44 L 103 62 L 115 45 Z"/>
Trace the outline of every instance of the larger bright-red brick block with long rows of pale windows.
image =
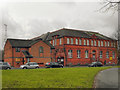
<path id="1" fill-rule="evenodd" d="M 94 61 L 117 64 L 117 41 L 100 33 L 63 28 L 47 33 L 45 40 L 55 48 L 53 62 L 64 66 L 87 65 Z"/>

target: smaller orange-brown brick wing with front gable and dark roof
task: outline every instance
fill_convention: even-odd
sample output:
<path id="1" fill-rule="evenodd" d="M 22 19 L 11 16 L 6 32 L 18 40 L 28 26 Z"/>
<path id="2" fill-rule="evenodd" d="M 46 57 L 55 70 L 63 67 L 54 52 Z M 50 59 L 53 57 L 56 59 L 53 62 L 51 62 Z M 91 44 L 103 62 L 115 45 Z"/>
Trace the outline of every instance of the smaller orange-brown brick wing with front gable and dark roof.
<path id="1" fill-rule="evenodd" d="M 4 47 L 4 61 L 14 67 L 27 62 L 37 62 L 40 66 L 44 66 L 44 63 L 52 60 L 52 49 L 54 47 L 49 42 L 41 39 L 7 39 Z"/>

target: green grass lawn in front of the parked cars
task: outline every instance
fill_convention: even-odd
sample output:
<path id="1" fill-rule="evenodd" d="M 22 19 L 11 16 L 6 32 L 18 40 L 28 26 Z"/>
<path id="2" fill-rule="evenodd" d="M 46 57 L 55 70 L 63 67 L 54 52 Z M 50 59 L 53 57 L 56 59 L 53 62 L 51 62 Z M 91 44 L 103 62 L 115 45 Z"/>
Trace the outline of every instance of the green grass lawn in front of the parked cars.
<path id="1" fill-rule="evenodd" d="M 3 70 L 3 88 L 92 88 L 95 75 L 110 67 Z"/>

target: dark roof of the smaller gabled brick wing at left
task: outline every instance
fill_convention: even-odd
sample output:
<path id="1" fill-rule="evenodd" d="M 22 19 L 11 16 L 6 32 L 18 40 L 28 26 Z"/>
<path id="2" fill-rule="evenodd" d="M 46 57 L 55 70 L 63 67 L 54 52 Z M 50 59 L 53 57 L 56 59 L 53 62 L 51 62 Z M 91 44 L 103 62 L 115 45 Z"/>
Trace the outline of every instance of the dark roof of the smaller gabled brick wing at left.
<path id="1" fill-rule="evenodd" d="M 10 44 L 12 45 L 12 47 L 21 47 L 21 48 L 29 48 L 31 47 L 33 44 L 39 42 L 40 40 L 43 41 L 42 39 L 34 39 L 34 40 L 25 40 L 25 39 L 7 39 Z M 43 41 L 44 43 L 46 43 L 48 46 L 50 46 L 51 48 L 54 48 L 49 41 Z"/>

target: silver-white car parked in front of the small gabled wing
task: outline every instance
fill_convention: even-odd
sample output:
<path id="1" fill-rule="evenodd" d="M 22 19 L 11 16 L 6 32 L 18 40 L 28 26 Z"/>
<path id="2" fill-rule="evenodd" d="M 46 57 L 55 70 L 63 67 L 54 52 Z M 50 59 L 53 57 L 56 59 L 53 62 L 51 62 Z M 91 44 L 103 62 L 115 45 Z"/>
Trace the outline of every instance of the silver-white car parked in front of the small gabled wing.
<path id="1" fill-rule="evenodd" d="M 29 62 L 20 66 L 21 69 L 37 69 L 39 65 L 36 62 Z"/>

